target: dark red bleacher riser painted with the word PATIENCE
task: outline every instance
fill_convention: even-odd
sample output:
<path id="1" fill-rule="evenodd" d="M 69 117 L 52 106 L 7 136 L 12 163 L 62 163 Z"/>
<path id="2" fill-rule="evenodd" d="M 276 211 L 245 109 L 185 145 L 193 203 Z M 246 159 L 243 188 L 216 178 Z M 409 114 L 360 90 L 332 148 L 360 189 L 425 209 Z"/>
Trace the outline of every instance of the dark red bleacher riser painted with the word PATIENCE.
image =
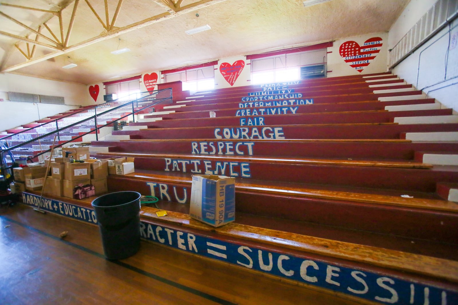
<path id="1" fill-rule="evenodd" d="M 101 158 L 110 158 L 103 154 Z M 240 160 L 218 160 L 222 168 L 217 167 L 216 160 L 203 160 L 194 167 L 193 158 L 171 157 L 174 160 L 186 160 L 185 169 L 181 165 L 174 169 L 171 159 L 156 157 L 136 157 L 136 169 L 148 169 L 167 172 L 180 172 L 191 174 L 213 174 L 231 176 L 230 162 L 234 162 L 233 173 L 237 177 L 255 180 L 284 181 L 295 183 L 311 183 L 323 185 L 341 185 L 364 187 L 373 189 L 391 189 L 404 191 L 436 191 L 436 182 L 458 181 L 458 172 L 441 169 L 403 169 L 375 166 L 340 166 L 340 165 L 317 165 L 300 162 L 281 163 L 272 161 L 255 162 Z M 207 167 L 206 167 L 207 166 Z M 197 170 L 196 170 L 197 169 Z M 224 170 L 223 170 L 224 169 Z M 209 171 L 207 171 L 209 170 Z M 249 181 L 247 181 L 249 182 Z"/>

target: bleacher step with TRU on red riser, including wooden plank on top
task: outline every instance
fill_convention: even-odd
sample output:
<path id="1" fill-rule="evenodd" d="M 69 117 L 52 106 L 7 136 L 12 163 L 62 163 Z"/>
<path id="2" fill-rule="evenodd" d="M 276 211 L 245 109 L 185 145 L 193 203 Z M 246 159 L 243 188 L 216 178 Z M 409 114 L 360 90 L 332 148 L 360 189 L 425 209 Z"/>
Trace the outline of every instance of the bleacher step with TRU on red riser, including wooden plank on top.
<path id="1" fill-rule="evenodd" d="M 185 174 L 145 170 L 108 177 L 109 191 L 135 189 L 171 205 L 189 204 L 191 180 Z M 236 181 L 235 192 L 236 213 L 445 243 L 458 238 L 457 204 L 431 193 L 409 192 L 405 197 L 403 191 L 260 180 Z M 429 223 L 428 231 L 419 231 L 424 223 Z"/>

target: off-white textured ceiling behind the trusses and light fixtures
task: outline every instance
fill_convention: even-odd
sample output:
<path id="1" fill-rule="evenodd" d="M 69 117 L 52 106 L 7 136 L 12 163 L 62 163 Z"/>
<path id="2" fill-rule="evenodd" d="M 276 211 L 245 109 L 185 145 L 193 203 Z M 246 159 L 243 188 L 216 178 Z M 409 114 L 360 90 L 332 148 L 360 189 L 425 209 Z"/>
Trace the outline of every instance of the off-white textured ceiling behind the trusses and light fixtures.
<path id="1" fill-rule="evenodd" d="M 62 10 L 65 40 L 75 1 L 78 5 L 67 47 L 39 37 L 38 43 L 57 46 L 60 50 L 38 45 L 33 58 L 27 60 L 15 47 L 19 38 L 11 36 L 28 36 L 34 41 L 36 34 L 8 16 L 35 31 L 46 22 L 60 41 L 59 17 L 9 5 Z M 120 0 L 107 1 L 109 23 L 112 23 Z M 0 0 L 1 71 L 93 84 L 193 63 L 387 32 L 409 2 L 331 0 L 304 7 L 303 0 L 121 1 L 114 27 L 107 31 L 87 4 L 89 2 L 106 23 L 104 0 Z M 211 30 L 194 35 L 185 33 L 205 24 L 210 25 Z M 44 26 L 41 33 L 55 40 Z M 28 52 L 27 43 L 20 42 L 18 46 L 30 57 L 28 53 L 32 53 L 33 44 L 29 44 Z M 124 47 L 131 52 L 110 53 Z M 70 62 L 78 66 L 62 69 Z M 24 63 L 27 65 L 22 65 Z"/>

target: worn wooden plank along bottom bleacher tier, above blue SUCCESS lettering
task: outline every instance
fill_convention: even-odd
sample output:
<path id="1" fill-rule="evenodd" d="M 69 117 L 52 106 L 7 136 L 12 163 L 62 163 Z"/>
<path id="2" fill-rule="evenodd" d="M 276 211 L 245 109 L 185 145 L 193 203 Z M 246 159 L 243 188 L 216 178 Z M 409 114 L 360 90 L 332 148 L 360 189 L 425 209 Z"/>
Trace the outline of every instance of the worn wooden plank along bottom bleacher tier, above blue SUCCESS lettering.
<path id="1" fill-rule="evenodd" d="M 146 207 L 142 209 L 141 216 L 157 220 L 157 211 L 159 210 L 152 207 Z M 193 221 L 188 215 L 181 213 L 171 212 L 167 218 L 161 218 L 161 220 L 180 223 L 192 229 L 202 229 L 205 231 L 215 230 L 213 227 Z M 287 232 L 273 232 L 269 229 L 260 230 L 256 227 L 240 226 L 232 223 L 220 227 L 216 229 L 216 231 L 223 236 L 238 237 L 248 240 L 252 239 L 253 241 L 264 240 L 268 244 L 280 244 L 297 251 L 305 251 L 306 249 L 306 251 L 325 256 L 364 261 L 377 267 L 396 268 L 405 272 L 420 272 L 424 275 L 434 276 L 452 282 L 458 281 L 458 262 L 455 261 L 434 259 L 405 252 L 401 253 L 398 251 L 389 251 L 387 249 L 377 249 L 375 247 L 349 244 L 335 240 L 325 240 L 299 234 L 289 234 Z M 270 236 L 277 236 L 277 239 L 274 241 Z"/>

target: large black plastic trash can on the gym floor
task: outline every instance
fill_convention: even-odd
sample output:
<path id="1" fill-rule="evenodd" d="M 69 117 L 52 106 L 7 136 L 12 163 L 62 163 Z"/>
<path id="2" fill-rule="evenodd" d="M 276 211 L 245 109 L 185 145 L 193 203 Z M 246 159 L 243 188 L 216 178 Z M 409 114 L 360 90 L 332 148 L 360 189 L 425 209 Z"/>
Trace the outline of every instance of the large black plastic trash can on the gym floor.
<path id="1" fill-rule="evenodd" d="M 138 192 L 122 191 L 93 200 L 106 258 L 127 258 L 140 248 L 141 196 Z"/>

